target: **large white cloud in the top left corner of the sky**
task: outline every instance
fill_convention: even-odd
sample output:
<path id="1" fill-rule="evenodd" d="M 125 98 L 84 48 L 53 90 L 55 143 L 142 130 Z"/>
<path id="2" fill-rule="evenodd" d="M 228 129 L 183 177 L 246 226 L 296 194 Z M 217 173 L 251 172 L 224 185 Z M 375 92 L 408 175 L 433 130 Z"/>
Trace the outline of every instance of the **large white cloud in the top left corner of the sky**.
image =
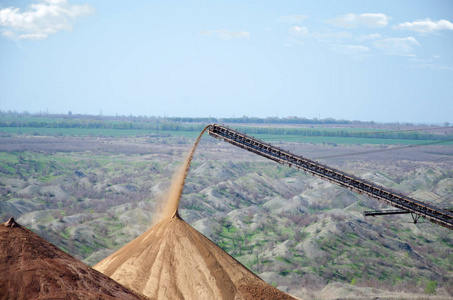
<path id="1" fill-rule="evenodd" d="M 91 5 L 71 5 L 66 0 L 41 0 L 24 12 L 8 7 L 0 10 L 2 35 L 12 39 L 47 38 L 62 30 L 71 31 L 72 23 L 81 16 L 94 13 Z"/>

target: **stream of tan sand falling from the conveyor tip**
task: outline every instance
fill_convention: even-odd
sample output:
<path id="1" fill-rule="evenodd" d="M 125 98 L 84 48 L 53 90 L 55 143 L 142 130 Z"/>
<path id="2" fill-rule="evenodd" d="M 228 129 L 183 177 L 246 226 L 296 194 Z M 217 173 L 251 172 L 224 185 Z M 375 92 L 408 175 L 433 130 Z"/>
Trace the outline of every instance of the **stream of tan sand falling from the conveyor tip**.
<path id="1" fill-rule="evenodd" d="M 190 163 L 192 162 L 193 155 L 195 153 L 195 150 L 197 149 L 197 146 L 201 140 L 201 137 L 203 136 L 203 133 L 209 127 L 210 127 L 210 125 L 206 126 L 203 129 L 203 131 L 201 131 L 200 135 L 198 136 L 197 140 L 195 141 L 195 144 L 192 147 L 192 150 L 190 151 L 189 155 L 187 156 L 184 164 L 173 176 L 170 190 L 168 191 L 168 194 L 166 195 L 165 205 L 163 207 L 162 213 L 157 218 L 157 222 L 159 222 L 163 219 L 166 219 L 166 218 L 173 218 L 175 216 L 178 216 L 179 202 L 181 200 L 182 191 L 184 189 L 184 184 L 186 182 L 187 173 L 189 172 Z"/>

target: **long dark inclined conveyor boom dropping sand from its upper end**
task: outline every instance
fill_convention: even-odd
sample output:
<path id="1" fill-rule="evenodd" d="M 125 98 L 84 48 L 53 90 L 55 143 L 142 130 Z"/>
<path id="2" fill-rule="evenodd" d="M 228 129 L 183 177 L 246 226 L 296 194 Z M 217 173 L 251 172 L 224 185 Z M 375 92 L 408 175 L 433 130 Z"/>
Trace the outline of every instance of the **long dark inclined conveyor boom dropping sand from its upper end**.
<path id="1" fill-rule="evenodd" d="M 302 156 L 295 155 L 289 151 L 280 149 L 223 125 L 210 125 L 208 134 L 270 160 L 303 170 L 306 173 L 335 183 L 351 191 L 384 201 L 394 207 L 417 216 L 422 216 L 433 223 L 453 230 L 453 213 L 447 210 L 409 198 L 364 179 L 346 174 Z"/>

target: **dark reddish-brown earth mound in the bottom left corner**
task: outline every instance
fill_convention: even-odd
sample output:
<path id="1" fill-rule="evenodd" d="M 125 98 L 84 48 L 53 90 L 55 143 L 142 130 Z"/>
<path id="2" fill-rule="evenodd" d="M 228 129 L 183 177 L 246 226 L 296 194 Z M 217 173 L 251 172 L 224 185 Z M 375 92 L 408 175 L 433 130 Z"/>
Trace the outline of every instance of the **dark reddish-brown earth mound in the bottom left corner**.
<path id="1" fill-rule="evenodd" d="M 0 299 L 144 299 L 10 220 L 0 224 Z"/>

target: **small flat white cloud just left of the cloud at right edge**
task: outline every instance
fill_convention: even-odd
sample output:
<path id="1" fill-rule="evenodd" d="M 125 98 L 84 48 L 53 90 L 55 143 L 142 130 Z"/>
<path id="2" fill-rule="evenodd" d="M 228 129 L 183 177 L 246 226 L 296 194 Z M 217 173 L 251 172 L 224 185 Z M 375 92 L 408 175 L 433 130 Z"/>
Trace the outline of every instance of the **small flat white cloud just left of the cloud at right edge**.
<path id="1" fill-rule="evenodd" d="M 374 14 L 374 13 L 366 13 L 366 14 L 346 14 L 342 16 L 338 16 L 335 19 L 328 20 L 327 22 L 333 24 L 338 27 L 344 28 L 355 28 L 359 26 L 371 27 L 371 28 L 379 28 L 385 27 L 388 24 L 390 18 L 385 14 Z"/>

